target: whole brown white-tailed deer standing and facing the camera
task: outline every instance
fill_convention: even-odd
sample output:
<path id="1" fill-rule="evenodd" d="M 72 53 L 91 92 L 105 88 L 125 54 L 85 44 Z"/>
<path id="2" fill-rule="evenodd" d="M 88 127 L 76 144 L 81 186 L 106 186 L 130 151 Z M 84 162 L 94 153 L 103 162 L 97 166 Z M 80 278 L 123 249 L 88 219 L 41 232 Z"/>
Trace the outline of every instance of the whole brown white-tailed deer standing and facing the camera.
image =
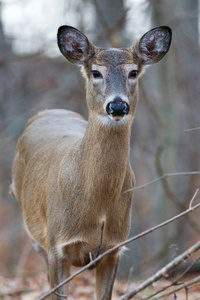
<path id="1" fill-rule="evenodd" d="M 171 29 L 157 27 L 131 48 L 97 48 L 79 30 L 61 26 L 58 46 L 86 79 L 89 118 L 63 109 L 29 120 L 15 153 L 11 193 L 26 229 L 48 265 L 51 288 L 127 239 L 135 185 L 131 124 L 138 78 L 169 50 Z M 120 251 L 96 267 L 96 298 L 111 299 Z M 52 299 L 62 299 L 60 288 Z M 60 294 L 60 295 L 59 295 Z"/>

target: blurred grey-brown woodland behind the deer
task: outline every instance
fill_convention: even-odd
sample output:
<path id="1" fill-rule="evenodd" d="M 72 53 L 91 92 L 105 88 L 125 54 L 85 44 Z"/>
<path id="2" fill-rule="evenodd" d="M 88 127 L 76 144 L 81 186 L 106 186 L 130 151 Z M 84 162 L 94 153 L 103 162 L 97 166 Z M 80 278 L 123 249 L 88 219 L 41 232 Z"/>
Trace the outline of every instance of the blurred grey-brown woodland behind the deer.
<path id="1" fill-rule="evenodd" d="M 59 53 L 68 24 L 97 46 L 128 47 L 149 29 L 173 30 L 169 53 L 140 80 L 131 163 L 137 185 L 165 173 L 200 171 L 200 5 L 198 0 L 0 1 L 0 275 L 45 270 L 9 194 L 17 139 L 43 109 L 87 118 L 85 83 Z M 193 129 L 185 131 L 186 129 Z M 171 176 L 135 192 L 131 236 L 184 211 L 200 175 Z M 196 202 L 200 199 L 197 196 Z M 200 211 L 128 245 L 120 276 L 144 278 L 197 242 Z"/>

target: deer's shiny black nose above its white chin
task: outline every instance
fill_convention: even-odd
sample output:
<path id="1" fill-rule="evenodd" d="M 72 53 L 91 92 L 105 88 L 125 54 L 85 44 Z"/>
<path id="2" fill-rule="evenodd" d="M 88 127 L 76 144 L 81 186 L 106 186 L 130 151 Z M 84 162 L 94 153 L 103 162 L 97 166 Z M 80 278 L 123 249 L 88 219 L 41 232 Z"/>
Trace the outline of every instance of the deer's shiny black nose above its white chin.
<path id="1" fill-rule="evenodd" d="M 107 104 L 106 112 L 113 117 L 123 117 L 129 113 L 129 105 L 120 97 L 117 97 Z"/>

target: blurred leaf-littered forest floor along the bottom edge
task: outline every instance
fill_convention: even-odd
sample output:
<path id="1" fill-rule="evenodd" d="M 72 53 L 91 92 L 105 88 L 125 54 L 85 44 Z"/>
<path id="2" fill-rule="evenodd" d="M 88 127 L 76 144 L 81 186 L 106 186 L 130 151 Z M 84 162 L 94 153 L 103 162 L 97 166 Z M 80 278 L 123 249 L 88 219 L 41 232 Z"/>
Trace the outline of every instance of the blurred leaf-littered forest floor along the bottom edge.
<path id="1" fill-rule="evenodd" d="M 94 297 L 94 272 L 86 271 L 78 277 L 74 278 L 70 283 L 70 300 L 89 300 L 95 299 Z M 151 295 L 156 290 L 160 290 L 167 283 L 166 280 L 156 283 L 153 287 L 148 288 L 140 294 L 135 296 L 134 299 L 141 300 Z M 127 281 L 117 279 L 113 291 L 113 299 L 119 299 L 127 291 L 134 286 L 137 286 L 139 282 L 132 282 L 127 284 Z M 49 291 L 49 285 L 47 282 L 46 274 L 41 273 L 34 277 L 0 277 L 0 299 L 2 300 L 35 300 L 42 296 L 45 292 Z M 49 299 L 49 298 L 47 298 Z M 175 295 L 163 297 L 164 300 L 199 300 L 200 299 L 200 286 L 196 286 L 189 290 L 188 297 L 186 297 L 186 291 L 182 290 Z"/>

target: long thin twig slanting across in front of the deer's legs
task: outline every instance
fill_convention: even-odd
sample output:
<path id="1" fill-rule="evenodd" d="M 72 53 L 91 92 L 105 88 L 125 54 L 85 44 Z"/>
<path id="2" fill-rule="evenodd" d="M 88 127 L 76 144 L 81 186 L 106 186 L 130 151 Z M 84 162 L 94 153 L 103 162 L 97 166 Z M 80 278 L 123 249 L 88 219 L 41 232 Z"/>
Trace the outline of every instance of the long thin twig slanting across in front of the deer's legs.
<path id="1" fill-rule="evenodd" d="M 197 195 L 197 191 L 195 192 L 195 196 L 196 195 Z M 193 197 L 192 197 L 192 199 L 193 199 Z M 171 219 L 169 219 L 169 220 L 167 220 L 167 221 L 165 221 L 163 223 L 160 223 L 159 225 L 156 225 L 156 226 L 154 226 L 154 227 L 152 227 L 152 228 L 150 228 L 150 229 L 148 229 L 148 230 L 146 230 L 146 231 L 144 231 L 144 232 L 142 232 L 142 233 L 140 233 L 140 234 L 138 234 L 138 235 L 136 235 L 136 236 L 134 236 L 134 237 L 132 237 L 132 238 L 124 241 L 124 242 L 122 242 L 122 243 L 117 244 L 116 246 L 114 246 L 111 249 L 107 250 L 103 254 L 99 255 L 96 259 L 94 259 L 93 261 L 91 261 L 90 263 L 88 263 L 86 266 L 84 266 L 83 268 L 81 268 L 74 275 L 68 277 L 66 280 L 64 280 L 63 282 L 61 282 L 59 285 L 57 285 L 56 287 L 54 287 L 53 289 L 51 289 L 48 293 L 44 294 L 38 300 L 45 299 L 46 297 L 48 297 L 49 295 L 51 295 L 53 292 L 55 292 L 57 289 L 59 289 L 60 287 L 62 287 L 63 285 L 65 285 L 66 283 L 68 283 L 69 281 L 71 281 L 73 278 L 75 278 L 79 274 L 83 273 L 85 270 L 87 270 L 91 266 L 95 265 L 104 256 L 106 256 L 106 255 L 108 255 L 108 254 L 116 251 L 120 247 L 123 247 L 123 246 L 125 246 L 125 245 L 127 245 L 127 244 L 129 244 L 129 243 L 131 243 L 131 242 L 133 242 L 133 241 L 135 241 L 135 240 L 137 240 L 137 239 L 139 239 L 139 238 L 141 238 L 141 237 L 143 237 L 143 236 L 145 236 L 145 235 L 147 235 L 147 234 L 149 234 L 149 233 L 151 233 L 151 232 L 153 232 L 153 231 L 155 231 L 155 230 L 157 230 L 157 229 L 159 229 L 159 228 L 161 228 L 161 227 L 163 227 L 163 226 L 165 226 L 165 225 L 167 225 L 167 224 L 169 224 L 169 223 L 171 223 L 171 222 L 173 222 L 173 221 L 175 221 L 175 220 L 177 220 L 177 219 L 179 219 L 179 218 L 181 218 L 183 216 L 185 216 L 186 214 L 190 213 L 191 211 L 197 209 L 198 207 L 200 207 L 200 203 L 197 204 L 197 205 L 195 205 L 195 206 L 193 206 L 193 207 L 189 207 L 186 211 L 184 211 L 184 212 L 176 215 L 175 217 L 173 217 L 173 218 L 171 218 Z"/>

